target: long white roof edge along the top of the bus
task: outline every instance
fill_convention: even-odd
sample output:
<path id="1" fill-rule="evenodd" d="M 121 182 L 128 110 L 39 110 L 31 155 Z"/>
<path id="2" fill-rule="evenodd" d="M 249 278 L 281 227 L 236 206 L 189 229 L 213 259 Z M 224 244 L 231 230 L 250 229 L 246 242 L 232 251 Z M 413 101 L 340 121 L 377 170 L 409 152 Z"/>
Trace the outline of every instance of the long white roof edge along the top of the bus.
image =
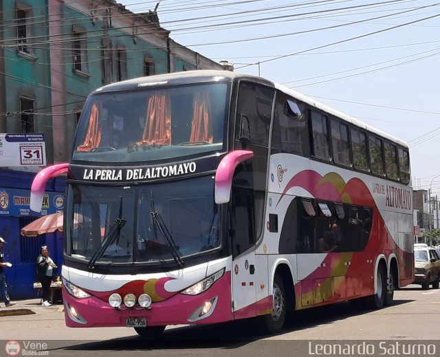
<path id="1" fill-rule="evenodd" d="M 362 129 L 365 129 L 371 133 L 375 133 L 378 136 L 382 136 L 382 138 L 386 138 L 390 140 L 391 142 L 395 142 L 402 147 L 408 148 L 408 144 L 404 140 L 400 140 L 396 138 L 395 136 L 392 136 L 388 133 L 385 133 L 384 131 L 381 131 L 380 129 L 376 129 L 375 127 L 371 127 L 370 125 L 367 125 L 366 123 L 349 116 L 345 113 L 342 113 L 336 109 L 333 109 L 331 107 L 328 107 L 327 105 L 322 104 L 321 102 L 318 102 L 317 100 L 314 100 L 313 98 L 310 98 L 308 96 L 305 96 L 304 94 L 300 94 L 298 91 L 295 91 L 294 89 L 290 89 L 288 87 L 285 87 L 284 85 L 278 84 L 273 82 L 272 80 L 267 80 L 266 78 L 258 77 L 258 76 L 252 76 L 250 74 L 241 74 L 238 72 L 230 72 L 230 71 L 221 71 L 221 70 L 192 70 L 192 71 L 184 71 L 184 72 L 173 72 L 169 74 L 157 74 L 155 76 L 146 76 L 146 77 L 139 77 L 139 78 L 133 78 L 129 80 L 123 80 L 122 82 L 112 83 L 109 85 L 105 85 L 104 87 L 100 87 L 96 89 L 95 92 L 105 92 L 105 91 L 119 91 L 119 90 L 129 90 L 129 89 L 136 89 L 139 87 L 148 87 L 149 85 L 154 85 L 157 83 L 157 85 L 162 84 L 161 82 L 165 83 L 171 83 L 171 84 L 186 84 L 186 83 L 193 83 L 197 78 L 212 78 L 215 76 L 230 78 L 230 80 L 234 79 L 251 79 L 256 82 L 270 85 L 271 87 L 274 87 L 276 89 L 279 89 L 286 94 L 289 94 L 290 96 L 293 96 L 294 98 L 298 98 L 298 100 L 301 100 L 308 105 L 311 105 L 312 107 L 316 107 L 317 109 L 320 109 L 322 111 L 325 111 L 333 116 L 336 116 L 338 118 L 342 118 L 343 120 L 346 120 L 347 122 L 351 122 L 353 125 L 356 125 Z"/>

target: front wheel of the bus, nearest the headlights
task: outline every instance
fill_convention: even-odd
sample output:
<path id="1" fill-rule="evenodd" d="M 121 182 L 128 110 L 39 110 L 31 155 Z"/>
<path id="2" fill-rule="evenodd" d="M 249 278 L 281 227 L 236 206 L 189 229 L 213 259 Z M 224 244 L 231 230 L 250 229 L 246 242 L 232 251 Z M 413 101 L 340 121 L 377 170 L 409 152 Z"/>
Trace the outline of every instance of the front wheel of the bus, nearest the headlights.
<path id="1" fill-rule="evenodd" d="M 286 318 L 286 290 L 283 279 L 276 273 L 274 277 L 274 286 L 272 287 L 272 314 L 266 314 L 263 317 L 263 327 L 268 334 L 278 334 L 283 330 Z"/>

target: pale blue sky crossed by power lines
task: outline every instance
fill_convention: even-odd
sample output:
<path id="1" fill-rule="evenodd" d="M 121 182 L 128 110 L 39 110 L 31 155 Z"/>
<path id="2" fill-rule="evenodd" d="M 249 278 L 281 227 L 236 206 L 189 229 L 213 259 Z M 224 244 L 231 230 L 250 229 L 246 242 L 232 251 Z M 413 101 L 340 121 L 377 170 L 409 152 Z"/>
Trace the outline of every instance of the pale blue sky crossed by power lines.
<path id="1" fill-rule="evenodd" d="M 295 89 L 408 143 L 412 186 L 440 199 L 440 2 L 118 0 L 157 6 L 177 43 Z"/>

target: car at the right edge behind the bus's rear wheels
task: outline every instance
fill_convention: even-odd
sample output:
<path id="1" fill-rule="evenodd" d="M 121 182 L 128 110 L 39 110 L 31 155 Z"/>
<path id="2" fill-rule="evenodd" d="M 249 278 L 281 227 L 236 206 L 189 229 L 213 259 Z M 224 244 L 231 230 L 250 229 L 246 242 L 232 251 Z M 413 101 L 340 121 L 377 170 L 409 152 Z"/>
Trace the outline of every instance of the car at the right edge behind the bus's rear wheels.
<path id="1" fill-rule="evenodd" d="M 414 247 L 415 284 L 421 284 L 423 290 L 439 288 L 440 257 L 434 248 L 423 246 Z"/>

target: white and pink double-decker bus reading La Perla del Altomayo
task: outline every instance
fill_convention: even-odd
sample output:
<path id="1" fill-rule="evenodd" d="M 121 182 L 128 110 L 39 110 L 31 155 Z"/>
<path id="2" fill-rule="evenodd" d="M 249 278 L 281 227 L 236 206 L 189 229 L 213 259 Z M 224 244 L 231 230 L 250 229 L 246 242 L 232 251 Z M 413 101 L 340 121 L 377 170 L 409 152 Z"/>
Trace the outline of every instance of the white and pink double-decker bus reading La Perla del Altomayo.
<path id="1" fill-rule="evenodd" d="M 97 89 L 67 173 L 63 299 L 69 327 L 256 317 L 413 281 L 407 144 L 270 80 L 192 71 Z"/>

